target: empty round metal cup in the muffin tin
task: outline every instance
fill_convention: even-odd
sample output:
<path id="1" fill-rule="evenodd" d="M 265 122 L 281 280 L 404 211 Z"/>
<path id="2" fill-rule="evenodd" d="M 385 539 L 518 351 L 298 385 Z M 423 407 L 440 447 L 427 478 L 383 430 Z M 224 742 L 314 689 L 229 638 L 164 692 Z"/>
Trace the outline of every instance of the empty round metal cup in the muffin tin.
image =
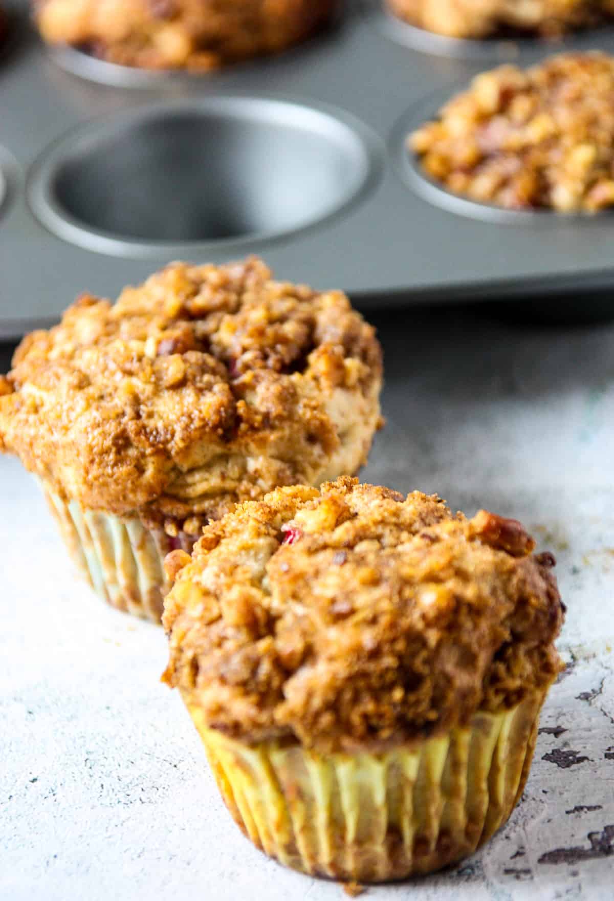
<path id="1" fill-rule="evenodd" d="M 321 223 L 373 172 L 362 125 L 257 97 L 147 107 L 70 132 L 39 159 L 34 213 L 113 255 L 194 255 Z"/>

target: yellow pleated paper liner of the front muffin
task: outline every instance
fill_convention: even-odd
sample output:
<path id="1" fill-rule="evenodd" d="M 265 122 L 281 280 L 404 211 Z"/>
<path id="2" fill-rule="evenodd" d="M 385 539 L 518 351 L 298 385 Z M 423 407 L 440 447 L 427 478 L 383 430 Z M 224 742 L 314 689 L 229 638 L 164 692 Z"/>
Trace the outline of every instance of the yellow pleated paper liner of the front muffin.
<path id="1" fill-rule="evenodd" d="M 259 849 L 312 875 L 377 882 L 460 860 L 505 823 L 528 776 L 544 697 L 478 712 L 440 738 L 328 755 L 243 744 L 187 706 L 231 815 Z"/>

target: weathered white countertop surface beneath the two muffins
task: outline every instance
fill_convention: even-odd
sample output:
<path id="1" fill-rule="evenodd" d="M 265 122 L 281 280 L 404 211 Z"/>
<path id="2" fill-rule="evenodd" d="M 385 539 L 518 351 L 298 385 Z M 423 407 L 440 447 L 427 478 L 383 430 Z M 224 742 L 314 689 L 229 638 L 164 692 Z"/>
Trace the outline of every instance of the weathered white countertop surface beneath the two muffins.
<path id="1" fill-rule="evenodd" d="M 458 310 L 377 324 L 388 424 L 364 478 L 527 523 L 558 560 L 569 662 L 509 824 L 459 867 L 366 897 L 611 901 L 614 325 Z M 158 681 L 164 634 L 74 580 L 16 460 L 0 460 L 0 497 L 2 901 L 344 897 L 239 833 L 179 697 Z"/>

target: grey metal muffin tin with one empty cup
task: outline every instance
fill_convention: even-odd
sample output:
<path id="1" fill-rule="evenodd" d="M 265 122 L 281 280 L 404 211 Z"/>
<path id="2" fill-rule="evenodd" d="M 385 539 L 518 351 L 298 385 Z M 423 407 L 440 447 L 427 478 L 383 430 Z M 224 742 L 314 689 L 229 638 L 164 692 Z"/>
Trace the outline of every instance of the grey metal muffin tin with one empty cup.
<path id="1" fill-rule="evenodd" d="M 607 290 L 614 217 L 509 213 L 450 196 L 408 131 L 474 74 L 562 49 L 456 41 L 348 2 L 321 37 L 205 76 L 48 49 L 14 5 L 0 60 L 0 337 L 169 259 L 266 258 L 280 278 L 378 305 Z"/>

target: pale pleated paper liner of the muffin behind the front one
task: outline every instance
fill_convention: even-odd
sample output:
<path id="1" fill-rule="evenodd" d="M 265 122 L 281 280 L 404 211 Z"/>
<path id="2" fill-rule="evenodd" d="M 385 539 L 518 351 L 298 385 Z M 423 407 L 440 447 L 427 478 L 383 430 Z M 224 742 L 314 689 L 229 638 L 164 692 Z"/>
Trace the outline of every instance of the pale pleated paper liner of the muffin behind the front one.
<path id="1" fill-rule="evenodd" d="M 168 590 L 163 562 L 172 550 L 166 532 L 43 491 L 70 556 L 95 591 L 118 610 L 159 623 Z"/>

